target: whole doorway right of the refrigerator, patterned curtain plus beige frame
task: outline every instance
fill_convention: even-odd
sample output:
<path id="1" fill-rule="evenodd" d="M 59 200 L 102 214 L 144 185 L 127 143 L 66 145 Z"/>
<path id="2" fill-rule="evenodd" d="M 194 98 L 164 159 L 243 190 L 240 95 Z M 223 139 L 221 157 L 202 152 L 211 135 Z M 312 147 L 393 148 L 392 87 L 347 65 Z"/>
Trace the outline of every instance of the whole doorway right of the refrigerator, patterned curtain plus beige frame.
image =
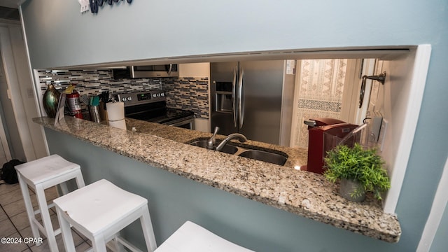
<path id="1" fill-rule="evenodd" d="M 367 106 L 356 106 L 358 84 L 360 76 L 373 73 L 368 65 L 373 66 L 374 62 L 374 59 L 297 60 L 290 147 L 308 148 L 304 120 L 335 118 L 357 125 L 363 122 Z M 370 85 L 366 93 L 370 93 Z"/>

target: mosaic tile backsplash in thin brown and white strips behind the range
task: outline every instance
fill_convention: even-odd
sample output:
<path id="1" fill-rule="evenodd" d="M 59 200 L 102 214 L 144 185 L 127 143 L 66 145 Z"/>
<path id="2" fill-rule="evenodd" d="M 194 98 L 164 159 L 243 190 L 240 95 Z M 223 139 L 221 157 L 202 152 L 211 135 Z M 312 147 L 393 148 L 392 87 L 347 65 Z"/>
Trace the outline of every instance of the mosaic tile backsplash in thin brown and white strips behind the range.
<path id="1" fill-rule="evenodd" d="M 209 118 L 209 78 L 113 78 L 111 69 L 40 70 L 41 93 L 52 83 L 57 90 L 76 84 L 76 90 L 88 96 L 109 91 L 110 95 L 133 91 L 165 90 L 167 106 L 193 111 L 196 118 Z"/>

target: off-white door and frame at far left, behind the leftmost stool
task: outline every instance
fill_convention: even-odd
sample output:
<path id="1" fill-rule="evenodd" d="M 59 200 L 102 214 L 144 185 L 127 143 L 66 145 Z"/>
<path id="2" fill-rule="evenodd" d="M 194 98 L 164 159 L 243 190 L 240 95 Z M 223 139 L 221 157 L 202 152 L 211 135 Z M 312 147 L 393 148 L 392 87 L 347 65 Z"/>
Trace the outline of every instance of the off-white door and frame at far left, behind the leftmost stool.
<path id="1" fill-rule="evenodd" d="M 0 22 L 0 55 L 0 100 L 12 158 L 31 161 L 44 157 L 43 130 L 32 122 L 38 111 L 20 24 Z"/>

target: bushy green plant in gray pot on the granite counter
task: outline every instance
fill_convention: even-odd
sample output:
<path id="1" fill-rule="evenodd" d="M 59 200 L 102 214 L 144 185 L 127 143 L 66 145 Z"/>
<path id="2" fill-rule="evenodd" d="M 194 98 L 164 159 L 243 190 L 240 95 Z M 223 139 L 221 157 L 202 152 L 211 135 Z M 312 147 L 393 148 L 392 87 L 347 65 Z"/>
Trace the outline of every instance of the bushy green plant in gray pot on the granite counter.
<path id="1" fill-rule="evenodd" d="M 341 181 L 339 193 L 347 200 L 362 202 L 366 192 L 381 200 L 381 193 L 391 188 L 384 160 L 375 148 L 339 145 L 328 151 L 324 160 L 323 175 L 332 183 Z"/>

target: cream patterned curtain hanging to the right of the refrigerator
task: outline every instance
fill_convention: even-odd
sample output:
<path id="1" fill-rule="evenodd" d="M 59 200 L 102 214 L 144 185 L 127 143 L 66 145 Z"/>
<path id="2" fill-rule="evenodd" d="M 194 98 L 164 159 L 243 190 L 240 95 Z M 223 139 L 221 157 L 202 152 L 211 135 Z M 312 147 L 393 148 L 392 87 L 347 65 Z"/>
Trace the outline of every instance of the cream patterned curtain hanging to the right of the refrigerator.
<path id="1" fill-rule="evenodd" d="M 297 125 L 293 125 L 293 147 L 308 148 L 308 130 L 304 120 L 340 118 L 347 59 L 304 59 L 298 71 Z M 294 120 L 293 120 L 294 121 Z"/>

